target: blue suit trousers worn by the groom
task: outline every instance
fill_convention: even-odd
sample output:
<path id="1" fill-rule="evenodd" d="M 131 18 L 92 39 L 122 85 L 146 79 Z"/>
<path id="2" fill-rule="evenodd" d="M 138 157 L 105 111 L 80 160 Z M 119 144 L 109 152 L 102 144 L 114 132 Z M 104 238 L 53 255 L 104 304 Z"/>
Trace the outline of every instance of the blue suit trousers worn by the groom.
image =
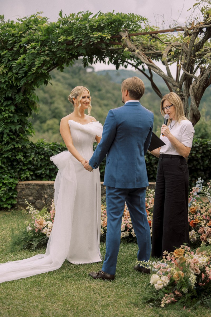
<path id="1" fill-rule="evenodd" d="M 121 221 L 125 202 L 139 247 L 138 260 L 148 261 L 151 254 L 150 227 L 145 209 L 146 187 L 114 188 L 106 186 L 107 233 L 106 255 L 102 270 L 115 274 L 121 240 Z"/>

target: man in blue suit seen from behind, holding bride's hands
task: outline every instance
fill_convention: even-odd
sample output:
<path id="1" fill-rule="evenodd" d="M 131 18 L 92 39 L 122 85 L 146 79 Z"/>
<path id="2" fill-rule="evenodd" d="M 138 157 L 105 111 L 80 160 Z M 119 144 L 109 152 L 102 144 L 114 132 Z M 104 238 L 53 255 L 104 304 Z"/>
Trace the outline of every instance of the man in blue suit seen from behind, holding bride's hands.
<path id="1" fill-rule="evenodd" d="M 122 214 L 127 203 L 139 247 L 138 260 L 148 261 L 151 253 L 150 227 L 145 210 L 146 186 L 149 185 L 144 155 L 150 144 L 153 113 L 139 100 L 145 91 L 138 77 L 122 82 L 124 106 L 109 110 L 102 139 L 84 168 L 92 171 L 106 156 L 107 234 L 106 255 L 99 272 L 90 272 L 94 279 L 114 280 L 121 239 Z M 150 269 L 134 266 L 142 273 Z"/>

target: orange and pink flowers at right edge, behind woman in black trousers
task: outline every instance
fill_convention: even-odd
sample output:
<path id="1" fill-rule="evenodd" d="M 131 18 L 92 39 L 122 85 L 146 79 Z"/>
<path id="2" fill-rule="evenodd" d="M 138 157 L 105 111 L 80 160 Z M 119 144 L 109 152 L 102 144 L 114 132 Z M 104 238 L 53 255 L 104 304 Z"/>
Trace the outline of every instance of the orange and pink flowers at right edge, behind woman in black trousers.
<path id="1" fill-rule="evenodd" d="M 203 186 L 198 178 L 189 196 L 189 225 L 191 246 L 211 244 L 211 186 Z"/>

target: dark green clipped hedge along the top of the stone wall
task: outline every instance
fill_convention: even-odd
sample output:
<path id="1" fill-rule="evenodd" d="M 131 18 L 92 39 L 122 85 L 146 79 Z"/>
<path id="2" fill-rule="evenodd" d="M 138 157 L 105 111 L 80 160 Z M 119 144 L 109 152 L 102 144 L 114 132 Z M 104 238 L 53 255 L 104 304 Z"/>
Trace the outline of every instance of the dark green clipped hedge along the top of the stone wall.
<path id="1" fill-rule="evenodd" d="M 96 144 L 94 144 L 94 150 Z M 20 180 L 54 180 L 57 174 L 57 167 L 50 161 L 50 157 L 66 150 L 66 147 L 59 143 L 47 143 L 38 141 L 30 142 L 27 152 L 22 157 L 22 168 Z M 195 139 L 188 158 L 190 186 L 195 185 L 196 180 L 201 177 L 205 182 L 211 178 L 209 159 L 211 157 L 211 141 Z M 158 158 L 152 154 L 146 154 L 146 167 L 149 182 L 155 182 L 158 167 Z M 101 181 L 104 179 L 105 159 L 100 165 Z"/>

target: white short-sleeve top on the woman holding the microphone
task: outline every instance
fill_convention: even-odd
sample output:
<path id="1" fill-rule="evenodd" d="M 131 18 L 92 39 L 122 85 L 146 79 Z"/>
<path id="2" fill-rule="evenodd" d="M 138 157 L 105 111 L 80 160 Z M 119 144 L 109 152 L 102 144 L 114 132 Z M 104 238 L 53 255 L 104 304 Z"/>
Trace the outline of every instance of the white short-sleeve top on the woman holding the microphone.
<path id="1" fill-rule="evenodd" d="M 179 142 L 184 144 L 184 146 L 192 147 L 193 136 L 195 132 L 192 122 L 189 120 L 181 120 L 180 123 L 177 122 L 175 125 L 174 123 L 175 120 L 172 120 L 172 129 L 170 130 L 171 134 L 177 138 Z M 160 154 L 180 155 L 165 136 L 160 135 L 160 139 L 165 143 L 165 145 L 161 146 L 160 148 Z"/>

